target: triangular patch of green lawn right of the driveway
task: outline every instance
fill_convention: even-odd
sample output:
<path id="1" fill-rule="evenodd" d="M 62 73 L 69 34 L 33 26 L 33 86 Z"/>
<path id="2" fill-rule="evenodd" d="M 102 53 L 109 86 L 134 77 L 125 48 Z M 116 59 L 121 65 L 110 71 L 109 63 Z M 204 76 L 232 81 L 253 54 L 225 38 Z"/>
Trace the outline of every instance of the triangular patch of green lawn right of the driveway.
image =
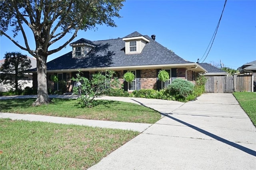
<path id="1" fill-rule="evenodd" d="M 256 127 L 256 93 L 235 92 L 233 94 Z"/>

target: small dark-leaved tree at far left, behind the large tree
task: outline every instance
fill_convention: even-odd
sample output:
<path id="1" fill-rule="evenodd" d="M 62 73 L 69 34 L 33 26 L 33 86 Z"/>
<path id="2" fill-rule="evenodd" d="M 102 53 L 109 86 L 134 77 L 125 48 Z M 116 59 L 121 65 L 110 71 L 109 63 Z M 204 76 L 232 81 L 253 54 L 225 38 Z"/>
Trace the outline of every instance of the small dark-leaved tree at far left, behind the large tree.
<path id="1" fill-rule="evenodd" d="M 15 93 L 21 90 L 22 85 L 26 83 L 23 81 L 24 70 L 32 67 L 31 60 L 26 55 L 22 55 L 20 52 L 9 52 L 4 55 L 4 63 L 0 67 L 0 71 L 3 73 L 1 78 L 3 84 L 8 84 L 15 89 Z"/>

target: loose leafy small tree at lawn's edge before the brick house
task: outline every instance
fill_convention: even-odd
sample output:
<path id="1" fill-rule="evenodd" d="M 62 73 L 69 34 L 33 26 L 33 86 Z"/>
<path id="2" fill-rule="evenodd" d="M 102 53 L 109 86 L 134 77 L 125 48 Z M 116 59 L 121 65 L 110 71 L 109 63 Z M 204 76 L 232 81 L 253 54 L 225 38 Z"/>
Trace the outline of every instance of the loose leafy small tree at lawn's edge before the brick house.
<path id="1" fill-rule="evenodd" d="M 92 79 L 80 75 L 80 71 L 76 74 L 76 78 L 72 77 L 72 81 L 76 81 L 77 87 L 73 88 L 75 94 L 81 94 L 78 98 L 80 107 L 92 107 L 95 105 L 94 98 L 103 95 L 110 88 L 120 87 L 118 77 L 113 77 L 114 71 L 100 72 L 92 75 Z"/>

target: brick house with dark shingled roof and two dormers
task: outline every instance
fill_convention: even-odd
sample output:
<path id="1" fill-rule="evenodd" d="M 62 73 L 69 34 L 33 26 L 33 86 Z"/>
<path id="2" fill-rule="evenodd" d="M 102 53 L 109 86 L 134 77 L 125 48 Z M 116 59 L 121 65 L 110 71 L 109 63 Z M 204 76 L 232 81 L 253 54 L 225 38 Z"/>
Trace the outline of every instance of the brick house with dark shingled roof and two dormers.
<path id="1" fill-rule="evenodd" d="M 198 73 L 206 72 L 198 63 L 182 59 L 160 43 L 155 36 L 142 36 L 133 32 L 124 38 L 90 41 L 80 39 L 70 43 L 72 51 L 47 63 L 48 89 L 60 90 L 60 85 L 51 80 L 52 75 L 67 83 L 66 92 L 72 92 L 76 82 L 70 79 L 76 77 L 78 69 L 84 77 L 90 79 L 98 71 L 113 70 L 124 83 L 126 91 L 139 89 L 162 89 L 173 79 L 182 78 L 194 81 Z M 158 72 L 168 71 L 170 79 L 166 82 L 158 80 Z M 36 69 L 33 73 L 33 86 L 37 85 Z M 135 75 L 132 83 L 122 79 L 124 73 L 132 71 Z"/>

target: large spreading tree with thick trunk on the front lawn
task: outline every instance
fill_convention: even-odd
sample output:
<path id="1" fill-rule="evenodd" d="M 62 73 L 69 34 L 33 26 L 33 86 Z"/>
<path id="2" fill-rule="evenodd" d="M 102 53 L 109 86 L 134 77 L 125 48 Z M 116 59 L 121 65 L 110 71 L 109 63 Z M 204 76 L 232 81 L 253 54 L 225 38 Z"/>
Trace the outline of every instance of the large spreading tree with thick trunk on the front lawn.
<path id="1" fill-rule="evenodd" d="M 120 18 L 118 12 L 124 0 L 0 0 L 0 34 L 15 45 L 28 51 L 37 61 L 37 99 L 34 105 L 49 103 L 46 81 L 46 60 L 68 45 L 78 30 L 89 30 L 97 24 L 116 26 L 113 17 Z M 8 35 L 11 27 L 13 36 Z M 28 37 L 28 27 L 34 37 Z M 24 45 L 16 42 L 18 33 L 24 38 Z M 68 36 L 68 40 L 64 37 Z M 13 38 L 12 38 L 13 37 Z M 35 49 L 31 49 L 28 38 L 34 39 Z M 49 47 L 61 42 L 56 49 Z"/>

